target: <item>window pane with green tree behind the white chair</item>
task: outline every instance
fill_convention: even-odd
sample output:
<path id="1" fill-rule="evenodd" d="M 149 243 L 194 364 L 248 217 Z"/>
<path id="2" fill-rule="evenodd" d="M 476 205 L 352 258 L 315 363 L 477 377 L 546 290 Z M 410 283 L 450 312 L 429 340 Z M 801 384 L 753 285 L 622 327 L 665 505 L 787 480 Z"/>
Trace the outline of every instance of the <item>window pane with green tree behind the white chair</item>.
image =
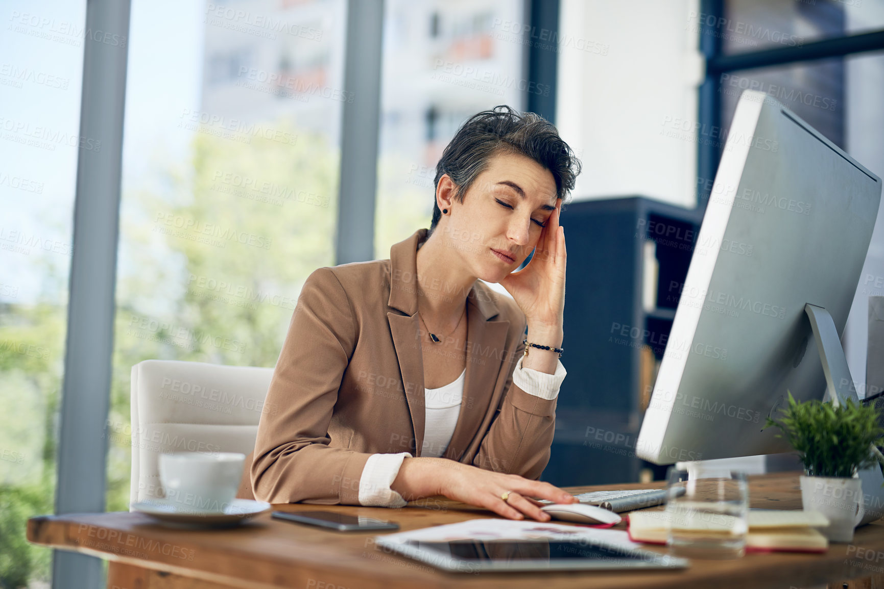
<path id="1" fill-rule="evenodd" d="M 334 264 L 347 100 L 344 0 L 133 0 L 131 21 L 108 510 L 141 443 L 134 364 L 276 364 L 301 284 Z"/>

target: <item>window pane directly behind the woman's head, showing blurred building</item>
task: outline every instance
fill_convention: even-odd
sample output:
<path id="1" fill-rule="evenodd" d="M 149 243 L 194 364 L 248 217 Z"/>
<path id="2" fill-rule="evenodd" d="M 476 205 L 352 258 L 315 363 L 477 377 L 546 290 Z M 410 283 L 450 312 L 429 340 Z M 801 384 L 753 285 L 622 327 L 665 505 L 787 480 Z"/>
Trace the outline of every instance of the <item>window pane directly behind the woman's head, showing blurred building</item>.
<path id="1" fill-rule="evenodd" d="M 375 258 L 430 227 L 436 163 L 457 127 L 524 108 L 523 12 L 522 0 L 385 2 Z"/>

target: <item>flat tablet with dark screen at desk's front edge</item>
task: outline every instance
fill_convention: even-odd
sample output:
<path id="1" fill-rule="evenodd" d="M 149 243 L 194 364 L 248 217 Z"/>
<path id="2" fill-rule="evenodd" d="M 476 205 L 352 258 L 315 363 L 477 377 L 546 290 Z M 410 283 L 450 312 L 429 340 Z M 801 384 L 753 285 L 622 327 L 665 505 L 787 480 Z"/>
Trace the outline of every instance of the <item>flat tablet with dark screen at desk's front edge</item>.
<path id="1" fill-rule="evenodd" d="M 650 550 L 579 538 L 563 540 L 416 541 L 377 538 L 377 544 L 444 570 L 682 569 L 688 560 Z"/>

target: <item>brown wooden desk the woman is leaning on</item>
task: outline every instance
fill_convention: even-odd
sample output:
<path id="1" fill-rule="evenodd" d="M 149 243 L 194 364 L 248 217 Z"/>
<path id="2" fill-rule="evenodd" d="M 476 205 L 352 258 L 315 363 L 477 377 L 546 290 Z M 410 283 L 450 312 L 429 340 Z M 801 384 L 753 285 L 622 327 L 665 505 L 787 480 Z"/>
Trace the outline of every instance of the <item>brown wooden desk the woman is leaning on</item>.
<path id="1" fill-rule="evenodd" d="M 801 509 L 797 472 L 750 477 L 751 507 Z M 571 487 L 574 493 L 610 488 L 662 487 L 663 483 Z M 336 510 L 392 519 L 401 531 L 495 517 L 445 498 L 430 498 L 402 510 L 305 504 L 274 510 Z M 881 520 L 884 522 L 884 520 Z M 463 574 L 432 569 L 378 548 L 377 532 L 331 532 L 271 519 L 270 515 L 229 530 L 177 530 L 148 516 L 116 512 L 32 517 L 27 539 L 110 561 L 113 589 L 210 589 L 218 587 L 303 587 L 305 589 L 396 589 L 399 587 L 777 587 L 879 586 L 884 572 L 884 525 L 857 529 L 850 544 L 833 544 L 825 555 L 749 554 L 735 561 L 693 560 L 687 570 L 644 572 Z M 664 552 L 665 547 L 654 547 Z M 844 579 L 861 579 L 842 585 Z"/>

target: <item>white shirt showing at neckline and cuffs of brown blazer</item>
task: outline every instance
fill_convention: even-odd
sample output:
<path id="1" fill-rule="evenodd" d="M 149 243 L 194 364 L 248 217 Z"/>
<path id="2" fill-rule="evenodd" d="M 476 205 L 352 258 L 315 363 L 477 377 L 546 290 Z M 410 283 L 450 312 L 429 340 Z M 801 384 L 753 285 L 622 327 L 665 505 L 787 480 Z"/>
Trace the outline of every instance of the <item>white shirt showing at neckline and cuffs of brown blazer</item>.
<path id="1" fill-rule="evenodd" d="M 513 382 L 529 395 L 552 400 L 559 396 L 561 381 L 568 371 L 556 360 L 555 374 L 540 372 L 534 368 L 522 368 L 522 358 L 513 370 Z M 421 456 L 441 457 L 445 454 L 457 419 L 461 413 L 463 385 L 467 369 L 464 368 L 457 380 L 438 389 L 423 389 L 424 426 Z M 359 502 L 372 507 L 404 507 L 408 502 L 402 495 L 390 488 L 399 474 L 402 460 L 411 457 L 409 452 L 399 454 L 372 454 L 365 462 L 359 480 Z"/>

